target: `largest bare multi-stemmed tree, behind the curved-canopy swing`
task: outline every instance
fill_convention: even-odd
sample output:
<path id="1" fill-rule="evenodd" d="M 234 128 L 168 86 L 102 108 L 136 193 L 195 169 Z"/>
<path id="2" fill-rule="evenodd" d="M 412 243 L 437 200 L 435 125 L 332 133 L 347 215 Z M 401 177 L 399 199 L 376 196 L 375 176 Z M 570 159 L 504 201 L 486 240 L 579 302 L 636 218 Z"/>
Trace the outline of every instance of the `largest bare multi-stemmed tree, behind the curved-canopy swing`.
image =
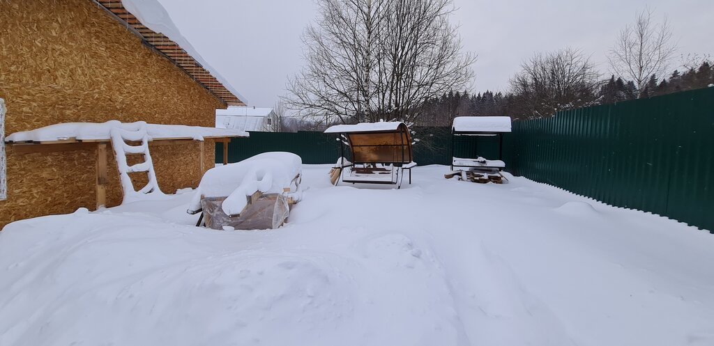
<path id="1" fill-rule="evenodd" d="M 320 0 L 303 33 L 306 66 L 288 80 L 286 105 L 341 123 L 413 122 L 429 97 L 471 81 L 472 54 L 448 19 L 451 0 Z"/>

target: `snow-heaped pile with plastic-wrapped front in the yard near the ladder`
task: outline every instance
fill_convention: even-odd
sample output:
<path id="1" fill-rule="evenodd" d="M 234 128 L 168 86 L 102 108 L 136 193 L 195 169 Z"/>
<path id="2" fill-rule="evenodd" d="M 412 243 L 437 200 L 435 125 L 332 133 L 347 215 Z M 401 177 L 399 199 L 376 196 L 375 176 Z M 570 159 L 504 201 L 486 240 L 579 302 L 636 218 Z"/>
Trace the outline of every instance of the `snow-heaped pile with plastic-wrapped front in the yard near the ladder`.
<path id="1" fill-rule="evenodd" d="M 273 152 L 211 168 L 187 212 L 201 213 L 196 225 L 216 230 L 278 228 L 301 198 L 301 166 L 300 156 Z"/>

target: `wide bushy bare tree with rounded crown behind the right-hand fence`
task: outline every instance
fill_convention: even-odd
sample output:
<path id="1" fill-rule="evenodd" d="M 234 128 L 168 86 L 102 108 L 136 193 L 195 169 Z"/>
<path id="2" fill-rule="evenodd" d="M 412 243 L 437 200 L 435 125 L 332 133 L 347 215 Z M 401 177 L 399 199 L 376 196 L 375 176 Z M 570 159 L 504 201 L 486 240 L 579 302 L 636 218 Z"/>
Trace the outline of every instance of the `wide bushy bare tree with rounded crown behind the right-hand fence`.
<path id="1" fill-rule="evenodd" d="M 593 105 L 597 99 L 600 74 L 579 49 L 535 54 L 521 68 L 511 78 L 514 115 L 551 116 L 557 111 Z"/>

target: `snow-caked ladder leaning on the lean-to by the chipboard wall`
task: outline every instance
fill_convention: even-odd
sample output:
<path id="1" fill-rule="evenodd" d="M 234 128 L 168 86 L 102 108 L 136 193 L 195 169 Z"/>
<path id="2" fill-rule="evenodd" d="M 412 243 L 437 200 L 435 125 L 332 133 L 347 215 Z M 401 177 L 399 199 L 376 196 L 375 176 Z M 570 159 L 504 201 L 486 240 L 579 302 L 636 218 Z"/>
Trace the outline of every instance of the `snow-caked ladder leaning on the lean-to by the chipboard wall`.
<path id="1" fill-rule="evenodd" d="M 109 131 L 111 136 L 111 146 L 114 148 L 116 156 L 116 168 L 119 168 L 119 181 L 121 183 L 121 193 L 124 196 L 122 203 L 148 198 L 164 198 L 165 195 L 159 189 L 154 172 L 154 162 L 151 161 L 149 153 L 149 134 L 146 133 L 146 123 L 137 121 L 136 123 L 121 124 L 121 127 L 114 126 Z M 139 146 L 129 143 L 141 142 Z M 129 166 L 126 156 L 144 156 L 144 162 Z M 129 173 L 146 173 L 147 183 L 139 190 L 134 189 Z"/>

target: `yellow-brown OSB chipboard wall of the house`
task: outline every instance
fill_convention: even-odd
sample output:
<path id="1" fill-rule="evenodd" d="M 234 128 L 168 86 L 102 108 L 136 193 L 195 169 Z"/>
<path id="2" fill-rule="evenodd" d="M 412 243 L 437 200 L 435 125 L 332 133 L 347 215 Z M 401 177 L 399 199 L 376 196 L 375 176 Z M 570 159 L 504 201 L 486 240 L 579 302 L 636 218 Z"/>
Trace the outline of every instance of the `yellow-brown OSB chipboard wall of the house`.
<path id="1" fill-rule="evenodd" d="M 0 14 L 0 98 L 6 101 L 6 134 L 53 123 L 112 119 L 213 127 L 215 109 L 225 108 L 90 0 L 0 1 Z M 156 142 L 150 150 L 164 192 L 198 185 L 203 173 L 198 142 Z M 204 151 L 212 162 L 211 141 Z M 16 145 L 8 145 L 6 154 L 8 193 L 7 200 L 0 201 L 0 227 L 80 207 L 94 209 L 94 146 L 21 153 Z M 107 188 L 108 206 L 121 203 L 111 149 Z"/>

